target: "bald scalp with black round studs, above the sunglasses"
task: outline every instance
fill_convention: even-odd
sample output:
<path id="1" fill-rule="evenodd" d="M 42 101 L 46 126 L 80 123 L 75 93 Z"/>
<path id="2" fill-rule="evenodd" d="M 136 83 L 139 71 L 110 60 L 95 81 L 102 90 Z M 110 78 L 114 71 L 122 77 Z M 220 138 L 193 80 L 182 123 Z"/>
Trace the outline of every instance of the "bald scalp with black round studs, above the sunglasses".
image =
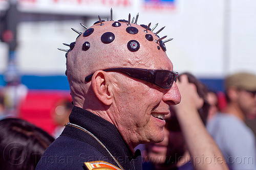
<path id="1" fill-rule="evenodd" d="M 116 67 L 156 69 L 156 61 L 169 62 L 162 40 L 145 25 L 125 20 L 94 24 L 68 52 L 67 76 L 71 93 L 87 91 L 84 78 L 96 70 Z M 161 68 L 158 68 L 161 69 Z M 82 95 L 82 94 L 80 94 Z"/>

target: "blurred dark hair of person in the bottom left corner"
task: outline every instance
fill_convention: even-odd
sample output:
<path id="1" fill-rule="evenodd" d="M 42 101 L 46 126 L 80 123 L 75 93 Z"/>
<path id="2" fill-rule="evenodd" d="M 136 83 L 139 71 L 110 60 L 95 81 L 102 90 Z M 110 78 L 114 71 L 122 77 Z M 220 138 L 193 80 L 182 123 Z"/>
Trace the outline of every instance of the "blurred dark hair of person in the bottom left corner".
<path id="1" fill-rule="evenodd" d="M 0 120 L 1 169 L 32 170 L 54 141 L 44 130 L 19 118 Z"/>

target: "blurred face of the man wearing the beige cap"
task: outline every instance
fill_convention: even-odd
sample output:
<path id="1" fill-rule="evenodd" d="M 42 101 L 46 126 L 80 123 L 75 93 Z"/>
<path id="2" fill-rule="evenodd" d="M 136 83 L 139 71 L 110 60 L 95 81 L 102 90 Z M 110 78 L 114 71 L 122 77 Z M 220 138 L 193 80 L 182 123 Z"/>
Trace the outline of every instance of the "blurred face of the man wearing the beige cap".
<path id="1" fill-rule="evenodd" d="M 239 90 L 238 95 L 239 106 L 246 115 L 256 112 L 256 95 L 246 90 Z"/>

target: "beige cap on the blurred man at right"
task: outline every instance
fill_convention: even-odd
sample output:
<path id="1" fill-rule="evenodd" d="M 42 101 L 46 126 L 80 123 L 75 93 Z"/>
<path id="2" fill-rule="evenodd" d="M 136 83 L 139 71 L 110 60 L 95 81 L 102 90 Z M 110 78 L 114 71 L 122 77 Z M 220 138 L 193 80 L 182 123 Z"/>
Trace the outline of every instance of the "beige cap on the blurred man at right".
<path id="1" fill-rule="evenodd" d="M 256 75 L 249 72 L 239 72 L 225 79 L 225 87 L 236 86 L 248 91 L 256 91 Z"/>

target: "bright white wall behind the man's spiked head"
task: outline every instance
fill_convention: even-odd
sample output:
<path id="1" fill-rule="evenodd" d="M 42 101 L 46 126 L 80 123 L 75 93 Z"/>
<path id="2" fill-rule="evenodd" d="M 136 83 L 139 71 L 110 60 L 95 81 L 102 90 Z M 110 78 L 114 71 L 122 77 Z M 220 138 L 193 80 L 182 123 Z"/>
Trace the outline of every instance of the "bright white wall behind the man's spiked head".
<path id="1" fill-rule="evenodd" d="M 134 1 L 133 1 L 134 2 Z M 176 0 L 175 10 L 145 10 L 143 2 L 135 1 L 131 8 L 113 7 L 114 20 L 128 19 L 139 12 L 138 24 L 159 23 L 155 32 L 174 40 L 167 42 L 167 55 L 179 72 L 191 71 L 198 77 L 222 78 L 238 70 L 256 73 L 256 1 Z M 110 6 L 105 6 L 109 10 Z M 99 13 L 101 13 L 99 11 Z M 90 27 L 98 20 L 84 23 Z M 228 17 L 227 17 L 228 16 Z M 106 19 L 106 18 L 103 18 Z M 84 29 L 79 20 L 23 22 L 18 27 L 18 61 L 23 74 L 63 74 L 66 70 L 62 43 L 75 40 Z M 0 58 L 3 54 L 0 48 Z M 3 65 L 0 64 L 0 70 Z"/>

